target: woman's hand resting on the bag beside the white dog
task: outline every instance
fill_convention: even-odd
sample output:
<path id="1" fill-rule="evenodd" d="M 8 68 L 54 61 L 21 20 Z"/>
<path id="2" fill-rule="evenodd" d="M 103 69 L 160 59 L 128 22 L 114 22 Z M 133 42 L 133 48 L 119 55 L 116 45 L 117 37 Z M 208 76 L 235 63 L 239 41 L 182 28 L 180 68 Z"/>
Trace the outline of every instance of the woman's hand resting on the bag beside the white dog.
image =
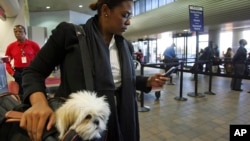
<path id="1" fill-rule="evenodd" d="M 50 130 L 55 122 L 55 114 L 49 107 L 44 94 L 34 93 L 30 96 L 31 107 L 26 110 L 21 118 L 20 127 L 27 130 L 32 141 L 42 141 L 42 134 Z"/>

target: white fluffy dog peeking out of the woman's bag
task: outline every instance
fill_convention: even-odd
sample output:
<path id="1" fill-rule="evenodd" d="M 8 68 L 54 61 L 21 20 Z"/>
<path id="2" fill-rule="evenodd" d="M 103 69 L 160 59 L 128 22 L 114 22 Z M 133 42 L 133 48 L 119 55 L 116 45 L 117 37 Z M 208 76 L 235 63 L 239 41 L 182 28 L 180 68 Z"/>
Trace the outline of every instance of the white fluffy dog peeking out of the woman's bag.
<path id="1" fill-rule="evenodd" d="M 70 129 L 83 140 L 100 138 L 106 130 L 110 109 L 104 96 L 97 97 L 96 93 L 79 91 L 70 94 L 70 98 L 56 110 L 56 128 L 62 139 Z"/>

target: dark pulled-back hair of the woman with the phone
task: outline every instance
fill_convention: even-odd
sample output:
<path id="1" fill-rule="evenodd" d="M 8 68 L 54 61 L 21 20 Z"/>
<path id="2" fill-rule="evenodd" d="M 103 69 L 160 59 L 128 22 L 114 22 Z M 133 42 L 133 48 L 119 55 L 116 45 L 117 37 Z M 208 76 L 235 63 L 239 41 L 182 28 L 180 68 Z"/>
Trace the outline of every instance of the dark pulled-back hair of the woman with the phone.
<path id="1" fill-rule="evenodd" d="M 92 10 L 97 10 L 97 13 L 100 14 L 100 10 L 103 4 L 107 4 L 110 9 L 113 9 L 120 3 L 124 1 L 133 1 L 133 0 L 98 0 L 95 3 L 91 3 L 89 8 Z"/>

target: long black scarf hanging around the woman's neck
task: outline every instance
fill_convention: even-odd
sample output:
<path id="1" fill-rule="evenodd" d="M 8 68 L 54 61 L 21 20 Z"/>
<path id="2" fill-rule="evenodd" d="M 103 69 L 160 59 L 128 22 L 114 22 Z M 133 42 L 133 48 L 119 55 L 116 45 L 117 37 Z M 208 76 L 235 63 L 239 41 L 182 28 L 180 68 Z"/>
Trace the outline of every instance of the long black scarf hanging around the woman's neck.
<path id="1" fill-rule="evenodd" d="M 108 123 L 107 141 L 139 141 L 138 111 L 135 99 L 135 73 L 132 56 L 127 41 L 115 35 L 121 64 L 122 86 L 115 106 L 115 85 L 110 65 L 109 45 L 104 41 L 97 27 L 97 16 L 85 25 L 88 45 L 92 50 L 94 62 L 94 87 L 98 94 L 107 96 L 111 116 Z"/>

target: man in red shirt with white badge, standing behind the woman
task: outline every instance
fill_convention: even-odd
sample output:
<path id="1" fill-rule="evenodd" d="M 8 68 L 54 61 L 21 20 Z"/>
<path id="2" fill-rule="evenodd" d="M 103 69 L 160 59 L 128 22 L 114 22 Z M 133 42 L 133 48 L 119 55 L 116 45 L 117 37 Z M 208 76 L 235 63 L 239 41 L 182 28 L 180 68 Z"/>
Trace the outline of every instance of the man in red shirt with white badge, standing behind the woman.
<path id="1" fill-rule="evenodd" d="M 22 88 L 22 72 L 23 69 L 29 66 L 30 62 L 34 59 L 39 52 L 39 45 L 26 38 L 26 30 L 22 25 L 16 25 L 14 27 L 14 34 L 16 41 L 10 43 L 6 49 L 5 56 L 9 59 L 6 61 L 7 72 L 14 77 L 15 81 L 19 85 L 19 92 L 21 98 L 23 94 Z M 13 62 L 13 66 L 11 61 Z"/>

